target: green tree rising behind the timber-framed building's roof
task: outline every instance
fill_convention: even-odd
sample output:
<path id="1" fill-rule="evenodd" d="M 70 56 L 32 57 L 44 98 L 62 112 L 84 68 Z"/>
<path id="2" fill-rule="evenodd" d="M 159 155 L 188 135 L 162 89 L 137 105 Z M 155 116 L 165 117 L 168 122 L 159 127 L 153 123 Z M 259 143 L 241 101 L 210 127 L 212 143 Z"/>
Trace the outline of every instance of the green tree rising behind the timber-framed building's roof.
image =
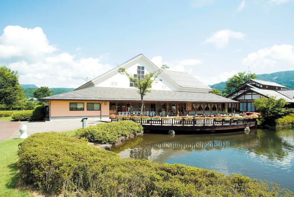
<path id="1" fill-rule="evenodd" d="M 246 72 L 239 72 L 238 74 L 235 74 L 233 77 L 228 78 L 229 81 L 225 84 L 225 89 L 228 93 L 237 90 L 238 87 L 245 81 L 257 78 L 257 75 L 255 73 L 245 73 Z"/>

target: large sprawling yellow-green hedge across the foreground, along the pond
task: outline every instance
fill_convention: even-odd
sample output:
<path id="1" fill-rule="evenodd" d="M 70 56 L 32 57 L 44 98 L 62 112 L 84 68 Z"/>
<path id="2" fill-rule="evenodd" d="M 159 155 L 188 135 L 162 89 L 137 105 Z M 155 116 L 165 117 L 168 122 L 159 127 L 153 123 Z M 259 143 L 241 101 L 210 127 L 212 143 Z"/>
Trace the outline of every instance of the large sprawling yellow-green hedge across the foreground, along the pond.
<path id="1" fill-rule="evenodd" d="M 18 169 L 25 183 L 69 196 L 283 196 L 274 184 L 182 164 L 122 159 L 56 132 L 36 133 L 19 145 Z M 286 191 L 284 195 L 293 196 Z"/>

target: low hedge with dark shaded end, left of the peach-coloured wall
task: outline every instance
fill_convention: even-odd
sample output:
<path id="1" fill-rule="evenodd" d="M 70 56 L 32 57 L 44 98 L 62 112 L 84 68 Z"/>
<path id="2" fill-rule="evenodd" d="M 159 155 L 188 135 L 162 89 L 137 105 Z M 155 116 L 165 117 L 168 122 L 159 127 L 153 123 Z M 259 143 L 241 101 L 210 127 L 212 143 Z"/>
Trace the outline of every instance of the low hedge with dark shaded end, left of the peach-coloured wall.
<path id="1" fill-rule="evenodd" d="M 39 121 L 44 120 L 46 115 L 45 106 L 37 106 L 34 110 L 24 110 L 14 113 L 11 117 L 18 121 Z"/>

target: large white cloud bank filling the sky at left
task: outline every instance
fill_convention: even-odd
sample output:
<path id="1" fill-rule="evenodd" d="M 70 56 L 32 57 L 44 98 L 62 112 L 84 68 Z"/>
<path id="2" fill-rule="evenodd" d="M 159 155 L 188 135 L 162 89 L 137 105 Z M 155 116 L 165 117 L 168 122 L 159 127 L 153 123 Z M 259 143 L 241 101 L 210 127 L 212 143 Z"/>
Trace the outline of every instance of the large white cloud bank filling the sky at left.
<path id="1" fill-rule="evenodd" d="M 79 87 L 86 77 L 92 79 L 113 68 L 101 64 L 100 58 L 76 59 L 74 54 L 56 53 L 58 49 L 48 43 L 39 27 L 7 26 L 0 37 L 0 58 L 19 71 L 21 84 L 37 86 Z"/>

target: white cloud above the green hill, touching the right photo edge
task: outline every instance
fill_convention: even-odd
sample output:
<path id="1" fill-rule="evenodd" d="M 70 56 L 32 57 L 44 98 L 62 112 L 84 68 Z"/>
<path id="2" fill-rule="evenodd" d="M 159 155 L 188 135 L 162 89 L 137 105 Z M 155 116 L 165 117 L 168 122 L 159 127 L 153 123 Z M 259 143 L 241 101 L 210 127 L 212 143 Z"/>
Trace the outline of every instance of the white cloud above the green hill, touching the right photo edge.
<path id="1" fill-rule="evenodd" d="M 293 45 L 274 45 L 270 48 L 258 50 L 256 53 L 250 53 L 241 62 L 246 66 L 274 66 L 278 61 L 294 64 L 294 46 Z"/>

